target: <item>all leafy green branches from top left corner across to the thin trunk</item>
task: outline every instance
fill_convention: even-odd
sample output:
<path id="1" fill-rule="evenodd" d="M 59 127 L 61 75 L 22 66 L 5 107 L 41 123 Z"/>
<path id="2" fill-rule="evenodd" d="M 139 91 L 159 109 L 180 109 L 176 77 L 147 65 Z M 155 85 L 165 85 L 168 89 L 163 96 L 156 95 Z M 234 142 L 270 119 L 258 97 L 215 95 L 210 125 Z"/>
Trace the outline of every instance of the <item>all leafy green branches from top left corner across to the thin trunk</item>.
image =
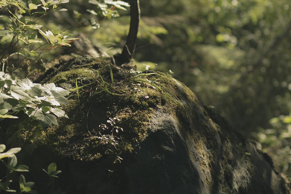
<path id="1" fill-rule="evenodd" d="M 62 4 L 69 0 L 4 0 L 0 2 L 0 37 L 3 54 L 0 56 L 0 66 L 3 72 L 13 72 L 17 69 L 29 69 L 36 59 L 42 54 L 60 46 L 70 46 L 70 42 L 77 40 L 72 34 L 59 30 L 62 25 L 48 26 L 46 16 L 54 15 L 55 11 L 67 11 Z M 95 5 L 95 9 L 87 9 L 90 13 L 86 19 L 77 10 L 72 10 L 79 24 L 90 24 L 93 28 L 100 26 L 104 17 L 118 17 L 114 8 L 126 10 L 129 4 L 124 1 L 95 1 L 89 3 Z M 91 6 L 92 7 L 92 6 Z M 93 16 L 93 17 L 92 17 Z M 95 21 L 95 17 L 99 22 Z M 87 22 L 87 23 L 86 23 Z M 70 26 L 69 28 L 72 28 Z M 49 28 L 49 30 L 42 30 Z"/>

